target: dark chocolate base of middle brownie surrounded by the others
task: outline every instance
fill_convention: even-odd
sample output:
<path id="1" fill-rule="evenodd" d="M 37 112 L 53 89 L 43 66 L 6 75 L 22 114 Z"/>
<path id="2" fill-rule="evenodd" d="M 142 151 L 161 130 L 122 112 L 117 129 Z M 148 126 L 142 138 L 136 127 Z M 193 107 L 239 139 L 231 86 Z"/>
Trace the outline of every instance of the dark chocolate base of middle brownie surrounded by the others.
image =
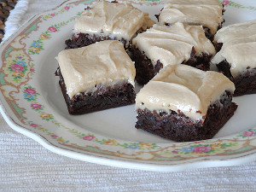
<path id="1" fill-rule="evenodd" d="M 151 60 L 134 45 L 131 46 L 130 52 L 131 60 L 135 61 L 135 79 L 138 84 L 147 84 L 148 81 L 153 79 L 156 73 L 159 73 L 160 69 L 163 67 L 163 64 L 160 61 L 157 61 L 156 65 L 153 66 Z M 212 55 L 202 53 L 200 56 L 196 56 L 195 49 L 193 48 L 190 56 L 189 61 L 183 61 L 183 64 L 196 67 L 204 71 L 210 69 L 210 60 Z"/>

